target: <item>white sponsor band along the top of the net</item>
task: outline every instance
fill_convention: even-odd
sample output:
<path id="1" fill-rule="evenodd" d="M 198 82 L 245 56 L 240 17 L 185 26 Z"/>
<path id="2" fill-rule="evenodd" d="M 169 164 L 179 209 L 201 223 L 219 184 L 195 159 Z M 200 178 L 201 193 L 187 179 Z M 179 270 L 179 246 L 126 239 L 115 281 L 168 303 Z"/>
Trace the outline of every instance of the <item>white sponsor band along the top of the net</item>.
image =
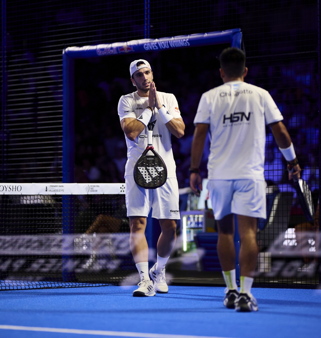
<path id="1" fill-rule="evenodd" d="M 3 195 L 125 194 L 124 183 L 0 183 Z"/>

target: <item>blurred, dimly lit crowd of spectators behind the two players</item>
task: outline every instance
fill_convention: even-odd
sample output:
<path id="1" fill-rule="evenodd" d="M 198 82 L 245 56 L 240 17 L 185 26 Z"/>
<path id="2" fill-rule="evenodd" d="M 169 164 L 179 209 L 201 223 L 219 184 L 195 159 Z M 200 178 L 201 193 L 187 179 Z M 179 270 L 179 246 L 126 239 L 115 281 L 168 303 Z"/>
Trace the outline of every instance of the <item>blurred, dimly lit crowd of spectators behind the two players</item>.
<path id="1" fill-rule="evenodd" d="M 136 57 L 136 54 L 131 56 L 132 59 Z M 189 186 L 188 168 L 194 131 L 193 119 L 201 94 L 222 83 L 218 71 L 219 64 L 214 52 L 212 61 L 211 56 L 205 61 L 205 64 L 212 62 L 212 68 L 198 67 L 196 72 L 187 72 L 186 68 L 177 62 L 178 60 L 175 63 L 170 59 L 167 64 L 168 58 L 165 54 L 149 57 L 157 89 L 176 96 L 186 125 L 183 138 L 178 140 L 172 137 L 178 185 L 179 188 L 184 188 Z M 162 67 L 158 67 L 158 63 L 161 63 Z M 268 90 L 272 95 L 291 134 L 303 169 L 302 177 L 312 191 L 316 191 L 319 187 L 320 120 L 319 93 L 313 90 L 317 88 L 315 59 L 305 60 L 305 67 L 302 67 L 302 61 L 299 64 L 295 59 L 290 60 L 287 66 L 279 65 L 278 62 L 255 63 L 251 60 L 247 66 L 249 74 L 245 81 Z M 128 74 L 123 77 L 108 76 L 108 66 L 104 62 L 83 61 L 77 67 L 76 182 L 124 182 L 127 148 L 117 114 L 117 103 L 121 95 L 135 91 L 127 71 L 127 64 L 124 68 L 125 74 Z M 173 72 L 174 80 L 169 79 L 167 75 Z M 208 137 L 201 163 L 202 177 L 207 177 L 209 143 Z M 286 163 L 268 127 L 264 169 L 268 185 L 278 186 L 281 190 L 293 189 L 288 183 Z"/>

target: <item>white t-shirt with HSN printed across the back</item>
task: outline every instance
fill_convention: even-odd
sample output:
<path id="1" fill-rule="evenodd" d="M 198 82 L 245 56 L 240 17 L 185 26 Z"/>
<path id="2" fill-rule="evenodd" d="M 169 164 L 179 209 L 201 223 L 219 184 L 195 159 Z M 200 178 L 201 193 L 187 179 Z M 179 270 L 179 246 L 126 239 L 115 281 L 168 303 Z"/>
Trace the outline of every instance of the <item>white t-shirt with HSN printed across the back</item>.
<path id="1" fill-rule="evenodd" d="M 264 180 L 265 125 L 283 117 L 266 90 L 230 81 L 204 93 L 194 124 L 210 125 L 208 178 Z"/>

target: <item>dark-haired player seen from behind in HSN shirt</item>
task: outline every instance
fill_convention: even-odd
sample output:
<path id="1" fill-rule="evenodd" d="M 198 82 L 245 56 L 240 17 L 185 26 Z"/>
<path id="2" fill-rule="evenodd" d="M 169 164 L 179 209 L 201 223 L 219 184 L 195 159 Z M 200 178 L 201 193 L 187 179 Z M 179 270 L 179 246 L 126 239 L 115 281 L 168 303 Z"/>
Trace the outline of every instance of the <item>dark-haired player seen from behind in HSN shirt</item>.
<path id="1" fill-rule="evenodd" d="M 227 288 L 223 300 L 236 311 L 257 311 L 251 293 L 258 246 L 257 219 L 266 218 L 264 148 L 265 126 L 293 170 L 289 179 L 300 178 L 291 138 L 271 95 L 244 82 L 248 69 L 245 53 L 224 49 L 220 55 L 221 86 L 204 93 L 194 119 L 190 185 L 202 189 L 199 165 L 207 132 L 211 135 L 208 190 L 218 224 L 217 251 Z M 240 291 L 235 279 L 234 215 L 240 235 Z"/>

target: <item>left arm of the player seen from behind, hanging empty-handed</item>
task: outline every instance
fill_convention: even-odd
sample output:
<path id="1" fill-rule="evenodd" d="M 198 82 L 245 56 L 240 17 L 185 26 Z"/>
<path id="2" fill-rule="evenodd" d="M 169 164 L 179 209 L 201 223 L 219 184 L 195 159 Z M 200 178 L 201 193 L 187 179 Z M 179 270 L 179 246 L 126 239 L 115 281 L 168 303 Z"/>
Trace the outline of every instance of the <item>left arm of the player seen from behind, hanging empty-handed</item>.
<path id="1" fill-rule="evenodd" d="M 209 125 L 206 123 L 197 123 L 192 141 L 190 187 L 197 196 L 199 196 L 199 190 L 203 189 L 202 179 L 199 175 L 199 166 L 203 155 L 208 128 Z"/>

